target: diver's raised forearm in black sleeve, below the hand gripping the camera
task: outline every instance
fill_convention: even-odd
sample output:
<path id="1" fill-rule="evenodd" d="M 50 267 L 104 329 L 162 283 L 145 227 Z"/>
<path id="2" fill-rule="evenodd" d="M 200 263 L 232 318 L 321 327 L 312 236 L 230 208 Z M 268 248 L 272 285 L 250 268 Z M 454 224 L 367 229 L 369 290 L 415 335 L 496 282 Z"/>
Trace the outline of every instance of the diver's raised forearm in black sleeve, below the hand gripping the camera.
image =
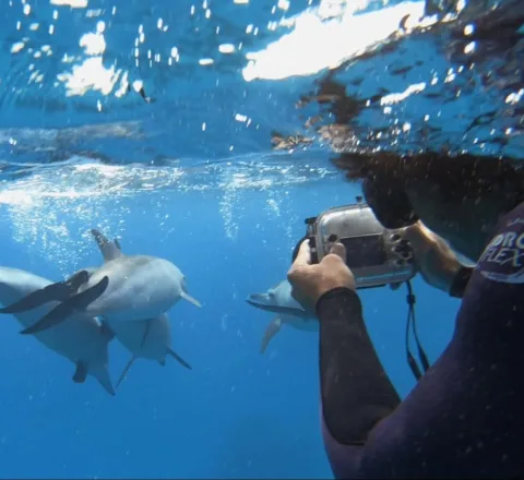
<path id="1" fill-rule="evenodd" d="M 358 464 L 369 432 L 401 399 L 368 335 L 357 293 L 348 288 L 325 292 L 317 314 L 324 443 L 338 477 L 337 457 L 346 469 Z"/>

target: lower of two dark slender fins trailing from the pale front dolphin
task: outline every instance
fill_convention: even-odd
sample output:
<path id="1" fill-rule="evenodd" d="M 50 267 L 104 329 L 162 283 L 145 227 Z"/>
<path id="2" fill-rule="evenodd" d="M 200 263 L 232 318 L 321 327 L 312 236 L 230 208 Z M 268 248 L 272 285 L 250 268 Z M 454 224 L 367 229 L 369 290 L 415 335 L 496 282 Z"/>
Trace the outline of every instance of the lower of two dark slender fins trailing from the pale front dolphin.
<path id="1" fill-rule="evenodd" d="M 34 325 L 23 329 L 21 334 L 29 335 L 37 332 L 45 331 L 52 326 L 57 326 L 62 323 L 68 316 L 70 316 L 76 310 L 84 310 L 90 303 L 100 297 L 109 284 L 109 278 L 104 277 L 98 284 L 90 289 L 69 298 L 64 302 L 55 307 L 47 315 L 44 315 Z"/>

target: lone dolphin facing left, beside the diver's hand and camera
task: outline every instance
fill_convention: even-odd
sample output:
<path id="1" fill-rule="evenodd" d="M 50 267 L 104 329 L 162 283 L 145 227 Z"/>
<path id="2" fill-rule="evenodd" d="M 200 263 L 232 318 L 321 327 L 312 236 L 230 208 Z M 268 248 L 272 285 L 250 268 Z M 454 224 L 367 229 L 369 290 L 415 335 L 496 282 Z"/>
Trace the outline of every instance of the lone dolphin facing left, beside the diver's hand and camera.
<path id="1" fill-rule="evenodd" d="M 260 347 L 261 353 L 265 351 L 269 343 L 281 331 L 283 324 L 306 332 L 319 331 L 318 320 L 308 314 L 291 297 L 291 285 L 287 280 L 270 288 L 265 293 L 252 293 L 246 301 L 258 309 L 276 313 L 265 329 Z"/>

